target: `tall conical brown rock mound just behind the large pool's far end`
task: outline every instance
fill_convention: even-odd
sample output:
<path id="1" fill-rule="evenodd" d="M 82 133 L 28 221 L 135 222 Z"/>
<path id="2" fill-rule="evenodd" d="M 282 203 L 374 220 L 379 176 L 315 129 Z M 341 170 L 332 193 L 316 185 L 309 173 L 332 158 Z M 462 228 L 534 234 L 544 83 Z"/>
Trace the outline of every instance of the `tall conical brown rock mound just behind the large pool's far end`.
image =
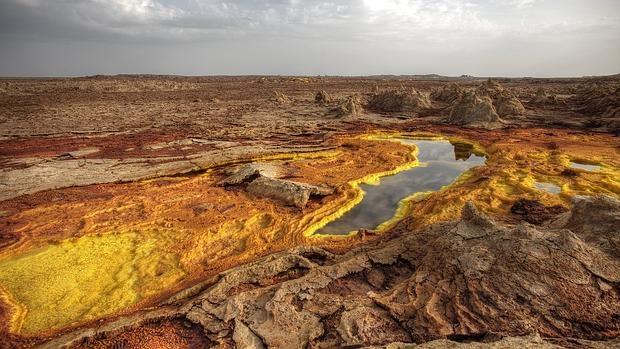
<path id="1" fill-rule="evenodd" d="M 501 125 L 499 115 L 488 96 L 467 91 L 452 107 L 447 123 L 459 126 L 497 128 Z"/>

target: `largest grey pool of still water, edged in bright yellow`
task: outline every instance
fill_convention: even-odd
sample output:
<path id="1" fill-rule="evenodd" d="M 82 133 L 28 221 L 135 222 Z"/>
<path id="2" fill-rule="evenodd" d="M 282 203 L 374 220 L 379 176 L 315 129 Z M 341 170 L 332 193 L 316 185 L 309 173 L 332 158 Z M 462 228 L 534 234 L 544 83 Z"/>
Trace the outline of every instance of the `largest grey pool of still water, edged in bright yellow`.
<path id="1" fill-rule="evenodd" d="M 397 139 L 418 147 L 419 167 L 382 177 L 378 185 L 362 184 L 362 201 L 317 234 L 344 235 L 359 229 L 375 229 L 394 217 L 403 199 L 421 192 L 437 191 L 454 182 L 468 169 L 484 164 L 472 153 L 473 146 L 445 140 Z"/>

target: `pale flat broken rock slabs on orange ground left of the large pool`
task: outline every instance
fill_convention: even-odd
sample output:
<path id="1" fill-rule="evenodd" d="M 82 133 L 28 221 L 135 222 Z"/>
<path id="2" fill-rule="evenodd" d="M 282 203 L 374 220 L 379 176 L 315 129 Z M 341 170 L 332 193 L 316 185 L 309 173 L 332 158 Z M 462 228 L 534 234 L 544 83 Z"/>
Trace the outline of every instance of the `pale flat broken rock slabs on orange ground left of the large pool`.
<path id="1" fill-rule="evenodd" d="M 333 188 L 278 179 L 279 167 L 266 163 L 241 165 L 219 184 L 222 186 L 247 184 L 246 190 L 256 196 L 281 201 L 299 209 L 306 207 L 311 196 L 325 196 L 334 192 Z"/>

